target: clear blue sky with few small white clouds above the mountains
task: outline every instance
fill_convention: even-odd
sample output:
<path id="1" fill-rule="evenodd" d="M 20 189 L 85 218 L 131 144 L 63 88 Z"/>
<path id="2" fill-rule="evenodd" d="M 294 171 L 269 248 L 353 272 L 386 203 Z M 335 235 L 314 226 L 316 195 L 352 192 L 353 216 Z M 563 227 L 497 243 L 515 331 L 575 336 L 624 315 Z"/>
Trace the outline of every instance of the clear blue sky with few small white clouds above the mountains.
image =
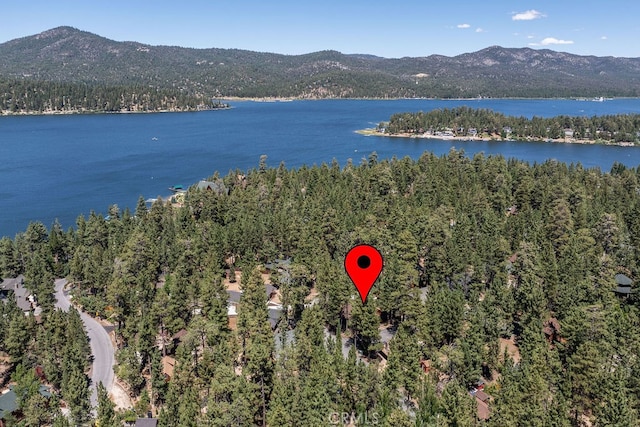
<path id="1" fill-rule="evenodd" d="M 283 54 L 453 56 L 500 45 L 640 57 L 639 12 L 635 0 L 31 0 L 0 6 L 0 42 L 70 25 L 120 41 Z"/>

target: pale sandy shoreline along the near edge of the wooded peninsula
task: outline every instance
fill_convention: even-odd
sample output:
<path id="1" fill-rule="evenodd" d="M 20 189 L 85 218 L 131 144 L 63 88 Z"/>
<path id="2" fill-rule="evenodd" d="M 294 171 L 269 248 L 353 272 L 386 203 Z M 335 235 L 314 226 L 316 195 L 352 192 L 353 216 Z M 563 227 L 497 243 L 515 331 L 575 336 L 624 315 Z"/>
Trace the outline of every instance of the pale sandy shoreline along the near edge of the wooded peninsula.
<path id="1" fill-rule="evenodd" d="M 405 138 L 405 139 L 436 139 L 439 141 L 462 141 L 462 142 L 544 142 L 544 143 L 554 143 L 554 144 L 580 144 L 580 145 L 613 145 L 618 147 L 640 147 L 636 145 L 634 142 L 614 142 L 607 140 L 591 140 L 591 139 L 573 139 L 573 138 L 529 138 L 529 139 L 509 139 L 502 138 L 499 135 L 496 136 L 443 136 L 443 135 L 430 135 L 430 134 L 411 134 L 411 133 L 397 133 L 397 134 L 388 134 L 382 133 L 376 130 L 375 128 L 368 129 L 360 129 L 355 131 L 357 134 L 363 136 L 381 136 L 388 138 Z"/>

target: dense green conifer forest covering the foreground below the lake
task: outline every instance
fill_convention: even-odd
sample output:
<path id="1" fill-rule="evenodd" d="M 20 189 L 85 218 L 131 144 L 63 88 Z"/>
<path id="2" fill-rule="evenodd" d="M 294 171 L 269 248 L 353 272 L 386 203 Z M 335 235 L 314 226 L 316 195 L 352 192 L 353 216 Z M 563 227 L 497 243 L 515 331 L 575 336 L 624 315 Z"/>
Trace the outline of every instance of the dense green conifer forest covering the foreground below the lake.
<path id="1" fill-rule="evenodd" d="M 315 426 L 343 414 L 385 426 L 637 424 L 640 298 L 613 291 L 616 274 L 639 274 L 640 169 L 454 150 L 342 167 L 266 160 L 214 176 L 228 192 L 194 187 L 182 205 L 111 206 L 67 231 L 32 224 L 0 241 L 2 275 L 24 273 L 41 295 L 54 276 L 73 281 L 74 299 L 116 326 L 135 411 L 162 426 Z M 366 304 L 343 266 L 358 243 L 385 260 Z M 278 259 L 290 264 L 271 282 L 291 308 L 274 337 L 262 274 Z M 242 275 L 236 328 L 227 274 Z M 14 366 L 45 363 L 47 331 L 19 322 L 0 316 L 0 350 Z M 158 347 L 181 330 L 175 347 Z M 104 399 L 98 414 L 118 425 Z"/>

